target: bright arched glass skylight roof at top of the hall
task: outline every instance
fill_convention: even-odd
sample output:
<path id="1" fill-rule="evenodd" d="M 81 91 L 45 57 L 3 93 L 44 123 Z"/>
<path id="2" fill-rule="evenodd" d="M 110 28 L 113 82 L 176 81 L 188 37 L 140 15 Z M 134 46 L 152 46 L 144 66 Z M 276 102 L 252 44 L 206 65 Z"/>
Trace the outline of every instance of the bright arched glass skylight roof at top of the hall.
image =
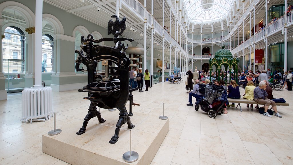
<path id="1" fill-rule="evenodd" d="M 235 0 L 184 0 L 188 19 L 194 24 L 215 23 L 229 15 Z"/>

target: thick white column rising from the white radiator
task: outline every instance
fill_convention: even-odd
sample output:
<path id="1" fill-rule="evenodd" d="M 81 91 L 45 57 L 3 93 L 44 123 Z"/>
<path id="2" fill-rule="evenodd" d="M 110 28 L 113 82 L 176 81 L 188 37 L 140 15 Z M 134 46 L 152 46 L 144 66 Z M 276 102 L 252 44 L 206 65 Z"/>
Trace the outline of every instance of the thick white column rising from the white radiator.
<path id="1" fill-rule="evenodd" d="M 35 85 L 34 88 L 42 88 L 42 21 L 43 0 L 36 0 L 35 10 Z M 40 66 L 40 67 L 39 67 Z"/>

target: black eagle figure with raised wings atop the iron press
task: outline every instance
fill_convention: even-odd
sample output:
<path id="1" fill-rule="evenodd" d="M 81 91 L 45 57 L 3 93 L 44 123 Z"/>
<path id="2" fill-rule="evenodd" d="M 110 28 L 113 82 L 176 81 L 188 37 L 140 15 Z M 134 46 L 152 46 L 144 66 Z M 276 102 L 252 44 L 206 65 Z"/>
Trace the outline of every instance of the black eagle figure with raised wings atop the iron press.
<path id="1" fill-rule="evenodd" d="M 126 17 L 123 17 L 122 20 L 119 20 L 119 17 L 115 14 L 111 16 L 112 18 L 116 18 L 115 22 L 110 19 L 108 22 L 108 35 L 113 34 L 114 36 L 122 36 L 123 31 L 125 30 L 125 21 Z"/>

